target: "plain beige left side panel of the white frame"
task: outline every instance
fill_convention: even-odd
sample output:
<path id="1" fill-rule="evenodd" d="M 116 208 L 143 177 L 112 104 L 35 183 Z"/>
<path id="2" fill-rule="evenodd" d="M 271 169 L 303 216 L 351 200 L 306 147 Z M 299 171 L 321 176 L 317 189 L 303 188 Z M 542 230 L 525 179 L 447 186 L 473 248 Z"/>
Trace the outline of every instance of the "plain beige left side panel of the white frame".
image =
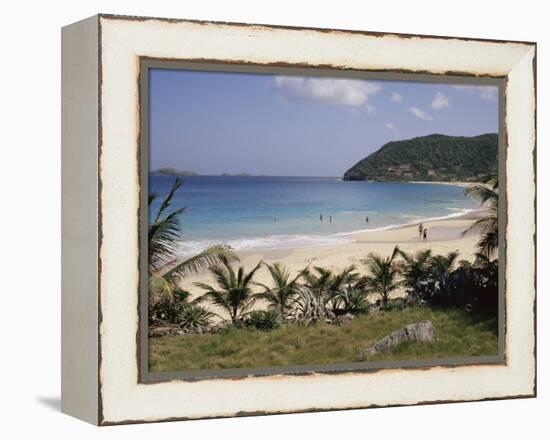
<path id="1" fill-rule="evenodd" d="M 61 410 L 99 422 L 98 17 L 61 33 Z"/>

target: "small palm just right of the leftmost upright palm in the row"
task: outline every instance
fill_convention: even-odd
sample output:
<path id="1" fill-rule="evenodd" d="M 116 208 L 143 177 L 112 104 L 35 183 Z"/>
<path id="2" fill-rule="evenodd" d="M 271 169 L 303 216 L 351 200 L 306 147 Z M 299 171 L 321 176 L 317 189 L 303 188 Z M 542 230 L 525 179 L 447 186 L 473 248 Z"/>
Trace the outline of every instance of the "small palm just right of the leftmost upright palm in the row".
<path id="1" fill-rule="evenodd" d="M 280 263 L 273 265 L 265 263 L 265 266 L 271 274 L 273 287 L 258 283 L 259 286 L 265 289 L 264 292 L 258 294 L 258 298 L 266 300 L 270 308 L 278 310 L 281 316 L 286 318 L 292 308 L 291 302 L 296 298 L 300 290 L 298 280 L 304 275 L 307 269 L 300 271 L 291 279 L 289 270 Z"/>

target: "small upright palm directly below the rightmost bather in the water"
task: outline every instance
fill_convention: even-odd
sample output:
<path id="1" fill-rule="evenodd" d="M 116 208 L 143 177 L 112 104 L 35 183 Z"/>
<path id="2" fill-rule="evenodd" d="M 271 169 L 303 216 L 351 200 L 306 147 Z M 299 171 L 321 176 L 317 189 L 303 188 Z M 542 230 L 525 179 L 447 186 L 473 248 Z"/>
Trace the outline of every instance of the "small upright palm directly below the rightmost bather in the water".
<path id="1" fill-rule="evenodd" d="M 370 275 L 365 277 L 366 289 L 368 292 L 380 295 L 384 308 L 386 308 L 392 292 L 401 287 L 400 268 L 398 262 L 395 261 L 398 252 L 399 248 L 395 246 L 389 257 L 371 253 L 363 260 L 370 272 Z"/>

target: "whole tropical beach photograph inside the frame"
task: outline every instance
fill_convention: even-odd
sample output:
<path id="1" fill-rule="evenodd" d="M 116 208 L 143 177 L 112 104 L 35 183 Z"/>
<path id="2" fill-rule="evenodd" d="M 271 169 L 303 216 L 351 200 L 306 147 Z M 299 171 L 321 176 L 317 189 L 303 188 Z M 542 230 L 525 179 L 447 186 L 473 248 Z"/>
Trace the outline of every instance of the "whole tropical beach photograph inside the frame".
<path id="1" fill-rule="evenodd" d="M 499 353 L 497 86 L 148 81 L 150 371 Z"/>

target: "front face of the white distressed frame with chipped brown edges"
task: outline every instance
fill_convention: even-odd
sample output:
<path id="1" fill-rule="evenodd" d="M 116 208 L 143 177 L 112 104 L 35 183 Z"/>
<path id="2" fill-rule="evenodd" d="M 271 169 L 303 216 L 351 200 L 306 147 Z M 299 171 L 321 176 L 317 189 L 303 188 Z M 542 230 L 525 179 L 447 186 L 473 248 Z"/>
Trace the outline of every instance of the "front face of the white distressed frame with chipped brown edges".
<path id="1" fill-rule="evenodd" d="M 97 22 L 97 423 L 535 395 L 534 44 L 114 16 Z M 139 383 L 140 57 L 507 77 L 506 365 Z"/>

